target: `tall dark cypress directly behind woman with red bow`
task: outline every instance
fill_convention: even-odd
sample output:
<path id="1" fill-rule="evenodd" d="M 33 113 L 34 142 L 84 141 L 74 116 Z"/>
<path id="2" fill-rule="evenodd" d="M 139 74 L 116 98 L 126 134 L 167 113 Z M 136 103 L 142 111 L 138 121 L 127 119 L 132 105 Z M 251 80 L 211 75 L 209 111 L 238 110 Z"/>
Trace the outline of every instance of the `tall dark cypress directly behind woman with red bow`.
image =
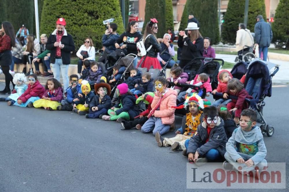
<path id="1" fill-rule="evenodd" d="M 150 18 L 158 20 L 157 37 L 162 38 L 166 33 L 166 18 L 165 18 L 166 1 L 165 0 L 147 0 L 145 5 L 144 26 L 142 33 L 144 33 L 145 26 Z"/>

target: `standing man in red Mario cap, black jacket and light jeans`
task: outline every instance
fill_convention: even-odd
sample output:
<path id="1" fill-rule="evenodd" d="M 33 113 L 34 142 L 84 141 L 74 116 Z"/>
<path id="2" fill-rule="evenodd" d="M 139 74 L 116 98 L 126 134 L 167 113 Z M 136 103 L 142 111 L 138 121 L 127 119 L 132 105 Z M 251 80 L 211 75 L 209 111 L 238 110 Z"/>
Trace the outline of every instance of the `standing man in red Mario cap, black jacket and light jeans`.
<path id="1" fill-rule="evenodd" d="M 46 48 L 51 51 L 50 62 L 54 78 L 60 81 L 60 72 L 63 79 L 64 90 L 69 85 L 68 67 L 70 64 L 70 52 L 75 50 L 72 36 L 66 32 L 64 18 L 56 21 L 56 29 L 51 33 L 46 43 Z"/>

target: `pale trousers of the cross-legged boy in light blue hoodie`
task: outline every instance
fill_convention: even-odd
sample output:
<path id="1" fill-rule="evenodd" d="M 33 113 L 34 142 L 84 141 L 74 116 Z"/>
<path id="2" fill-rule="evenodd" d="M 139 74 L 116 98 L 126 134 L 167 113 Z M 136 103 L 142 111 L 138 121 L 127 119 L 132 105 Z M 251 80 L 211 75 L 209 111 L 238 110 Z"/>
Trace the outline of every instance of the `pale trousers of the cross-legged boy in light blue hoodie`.
<path id="1" fill-rule="evenodd" d="M 251 157 L 253 157 L 253 155 L 247 155 L 247 154 L 244 154 L 244 153 L 239 153 L 238 154 L 244 159 L 244 161 L 247 161 L 249 160 Z M 254 166 L 251 166 L 251 167 L 248 167 L 246 166 L 245 164 L 243 163 L 237 163 L 236 161 L 234 161 L 234 159 L 230 156 L 230 154 L 228 152 L 225 153 L 225 159 L 229 162 L 229 163 L 233 163 L 232 165 L 238 169 L 238 167 L 242 167 L 242 171 L 253 171 L 255 169 L 255 167 L 259 167 L 259 170 L 263 170 L 264 167 L 267 166 L 267 161 L 266 159 L 263 159 L 260 163 L 258 163 L 257 165 L 254 165 Z"/>

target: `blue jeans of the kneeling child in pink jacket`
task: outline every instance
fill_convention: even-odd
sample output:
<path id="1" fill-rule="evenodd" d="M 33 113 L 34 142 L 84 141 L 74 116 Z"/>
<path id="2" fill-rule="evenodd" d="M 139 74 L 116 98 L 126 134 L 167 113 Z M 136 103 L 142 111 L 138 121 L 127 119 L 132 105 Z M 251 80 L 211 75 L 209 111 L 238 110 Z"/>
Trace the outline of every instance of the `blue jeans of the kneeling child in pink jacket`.
<path id="1" fill-rule="evenodd" d="M 141 131 L 143 133 L 149 133 L 153 131 L 153 135 L 159 132 L 160 135 L 165 134 L 170 129 L 170 125 L 162 124 L 162 119 L 159 117 L 150 117 L 142 126 Z"/>

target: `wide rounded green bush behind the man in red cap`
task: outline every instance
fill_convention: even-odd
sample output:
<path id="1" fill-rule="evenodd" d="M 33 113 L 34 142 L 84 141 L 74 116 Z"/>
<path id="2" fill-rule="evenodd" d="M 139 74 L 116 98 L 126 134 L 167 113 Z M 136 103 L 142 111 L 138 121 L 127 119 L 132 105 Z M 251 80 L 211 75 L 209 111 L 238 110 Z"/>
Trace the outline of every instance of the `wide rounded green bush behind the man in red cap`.
<path id="1" fill-rule="evenodd" d="M 51 34 L 55 22 L 63 17 L 66 30 L 72 35 L 76 50 L 86 37 L 91 37 L 96 48 L 101 48 L 101 37 L 105 31 L 103 20 L 114 18 L 118 33 L 123 33 L 123 21 L 118 0 L 44 0 L 40 32 Z"/>

